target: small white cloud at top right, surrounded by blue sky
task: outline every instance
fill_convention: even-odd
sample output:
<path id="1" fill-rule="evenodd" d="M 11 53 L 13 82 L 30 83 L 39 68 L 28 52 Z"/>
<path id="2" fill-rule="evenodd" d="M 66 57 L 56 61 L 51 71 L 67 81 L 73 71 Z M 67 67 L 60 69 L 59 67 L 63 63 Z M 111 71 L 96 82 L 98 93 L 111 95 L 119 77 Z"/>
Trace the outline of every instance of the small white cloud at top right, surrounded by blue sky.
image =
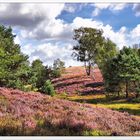
<path id="1" fill-rule="evenodd" d="M 92 4 L 92 6 L 95 7 L 95 10 L 93 10 L 92 15 L 93 16 L 98 16 L 100 14 L 100 12 L 104 9 L 109 9 L 112 12 L 118 12 L 123 10 L 126 7 L 126 4 L 124 3 L 96 3 L 96 4 Z"/>

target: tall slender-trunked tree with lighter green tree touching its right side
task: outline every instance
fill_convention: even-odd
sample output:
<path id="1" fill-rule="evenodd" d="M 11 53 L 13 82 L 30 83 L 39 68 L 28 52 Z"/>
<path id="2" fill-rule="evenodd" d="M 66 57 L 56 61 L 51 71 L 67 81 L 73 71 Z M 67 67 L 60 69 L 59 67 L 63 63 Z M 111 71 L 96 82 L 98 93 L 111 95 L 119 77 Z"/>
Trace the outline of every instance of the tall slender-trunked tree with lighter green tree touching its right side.
<path id="1" fill-rule="evenodd" d="M 74 40 L 77 45 L 73 47 L 72 56 L 84 62 L 86 73 L 90 75 L 91 67 L 97 64 L 104 71 L 105 63 L 117 53 L 116 45 L 103 37 L 103 31 L 94 28 L 79 28 L 74 30 Z"/>

